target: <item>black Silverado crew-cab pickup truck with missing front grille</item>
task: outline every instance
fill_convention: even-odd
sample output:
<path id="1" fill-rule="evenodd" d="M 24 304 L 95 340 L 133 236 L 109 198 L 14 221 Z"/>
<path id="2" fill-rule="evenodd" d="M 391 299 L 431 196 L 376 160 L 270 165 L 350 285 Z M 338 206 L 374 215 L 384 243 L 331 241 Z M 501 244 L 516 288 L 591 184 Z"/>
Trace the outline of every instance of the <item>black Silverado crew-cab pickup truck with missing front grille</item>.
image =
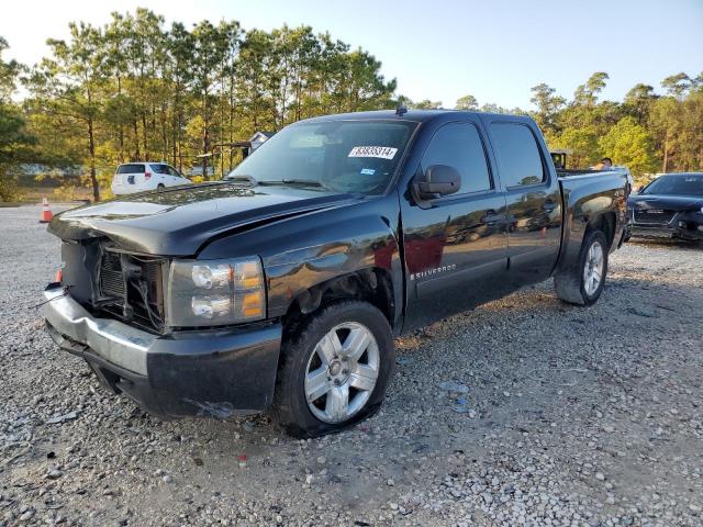
<path id="1" fill-rule="evenodd" d="M 594 303 L 627 176 L 558 175 L 523 116 L 311 119 L 222 181 L 58 214 L 42 309 L 58 346 L 155 415 L 268 410 L 326 434 L 379 407 L 394 335 L 549 277 Z"/>

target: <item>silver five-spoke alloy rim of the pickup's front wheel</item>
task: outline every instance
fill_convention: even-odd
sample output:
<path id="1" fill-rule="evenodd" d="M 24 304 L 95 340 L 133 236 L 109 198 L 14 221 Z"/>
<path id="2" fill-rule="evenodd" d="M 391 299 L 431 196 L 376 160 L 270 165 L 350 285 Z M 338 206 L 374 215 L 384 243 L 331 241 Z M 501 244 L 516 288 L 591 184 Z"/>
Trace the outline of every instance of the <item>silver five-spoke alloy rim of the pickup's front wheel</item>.
<path id="1" fill-rule="evenodd" d="M 380 354 L 368 327 L 347 322 L 314 347 L 305 369 L 305 399 L 313 415 L 343 423 L 367 403 L 378 379 Z"/>

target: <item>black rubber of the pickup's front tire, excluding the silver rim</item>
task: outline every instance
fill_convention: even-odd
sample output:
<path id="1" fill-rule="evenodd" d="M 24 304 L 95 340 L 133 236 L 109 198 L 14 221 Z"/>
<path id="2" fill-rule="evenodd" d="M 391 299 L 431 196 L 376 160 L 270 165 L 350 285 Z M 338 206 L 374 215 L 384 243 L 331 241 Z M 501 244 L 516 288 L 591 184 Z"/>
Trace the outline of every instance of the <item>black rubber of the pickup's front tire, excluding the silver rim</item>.
<path id="1" fill-rule="evenodd" d="M 314 347 L 333 327 L 356 322 L 366 326 L 376 338 L 379 349 L 379 373 L 371 396 L 366 405 L 344 423 L 325 423 L 311 412 L 304 390 L 308 361 Z M 341 302 L 323 310 L 298 333 L 290 345 L 283 346 L 287 354 L 279 371 L 275 406 L 278 417 L 287 430 L 298 437 L 314 437 L 339 431 L 375 413 L 386 394 L 394 368 L 394 344 L 390 326 L 383 314 L 365 302 Z"/>

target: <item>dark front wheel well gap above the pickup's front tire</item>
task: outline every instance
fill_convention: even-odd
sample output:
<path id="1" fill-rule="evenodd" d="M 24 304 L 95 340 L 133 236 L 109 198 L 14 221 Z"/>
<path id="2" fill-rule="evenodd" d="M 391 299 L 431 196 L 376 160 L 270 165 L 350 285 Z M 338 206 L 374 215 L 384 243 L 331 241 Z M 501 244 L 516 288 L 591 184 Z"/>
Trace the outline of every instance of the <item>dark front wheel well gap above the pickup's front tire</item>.
<path id="1" fill-rule="evenodd" d="M 362 269 L 313 285 L 300 293 L 283 316 L 283 338 L 291 335 L 312 313 L 339 300 L 359 300 L 379 309 L 393 326 L 395 301 L 390 273 L 384 269 Z"/>

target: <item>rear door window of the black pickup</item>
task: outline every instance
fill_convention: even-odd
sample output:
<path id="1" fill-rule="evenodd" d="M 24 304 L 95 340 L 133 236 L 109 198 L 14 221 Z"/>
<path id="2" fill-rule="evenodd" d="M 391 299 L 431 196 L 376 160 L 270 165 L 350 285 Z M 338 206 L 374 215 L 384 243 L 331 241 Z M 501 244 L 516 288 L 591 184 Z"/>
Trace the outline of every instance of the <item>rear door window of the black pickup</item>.
<path id="1" fill-rule="evenodd" d="M 539 147 L 527 126 L 517 123 L 493 123 L 491 139 L 501 181 L 505 187 L 536 184 L 545 180 Z"/>

